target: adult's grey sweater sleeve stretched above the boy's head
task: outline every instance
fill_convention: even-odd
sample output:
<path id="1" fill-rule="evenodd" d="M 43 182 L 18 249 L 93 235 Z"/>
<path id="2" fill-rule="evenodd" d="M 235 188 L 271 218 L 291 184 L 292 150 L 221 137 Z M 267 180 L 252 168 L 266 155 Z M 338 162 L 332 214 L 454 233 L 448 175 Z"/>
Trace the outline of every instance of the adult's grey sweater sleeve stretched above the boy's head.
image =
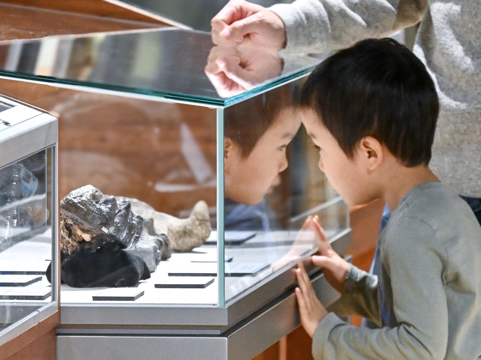
<path id="1" fill-rule="evenodd" d="M 417 24 L 428 5 L 429 0 L 296 0 L 269 9 L 286 26 L 286 49 L 323 53 Z"/>

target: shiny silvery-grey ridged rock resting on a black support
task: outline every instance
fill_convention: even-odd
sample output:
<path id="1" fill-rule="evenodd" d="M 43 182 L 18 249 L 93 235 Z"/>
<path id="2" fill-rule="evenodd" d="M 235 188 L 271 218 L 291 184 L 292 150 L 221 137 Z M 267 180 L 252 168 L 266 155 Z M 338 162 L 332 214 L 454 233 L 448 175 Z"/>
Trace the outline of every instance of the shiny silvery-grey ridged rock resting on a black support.
<path id="1" fill-rule="evenodd" d="M 61 250 L 95 251 L 99 247 L 127 249 L 135 246 L 144 219 L 131 211 L 128 200 L 104 195 L 92 185 L 70 192 L 60 202 Z"/>

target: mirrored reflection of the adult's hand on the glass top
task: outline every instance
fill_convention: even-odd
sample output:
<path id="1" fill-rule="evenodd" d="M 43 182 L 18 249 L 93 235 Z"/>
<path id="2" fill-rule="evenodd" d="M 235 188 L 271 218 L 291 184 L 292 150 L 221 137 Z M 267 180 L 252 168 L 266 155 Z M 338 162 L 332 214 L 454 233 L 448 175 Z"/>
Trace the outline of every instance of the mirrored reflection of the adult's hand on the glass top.
<path id="1" fill-rule="evenodd" d="M 283 60 L 275 51 L 240 46 L 215 46 L 211 49 L 205 74 L 221 97 L 253 89 L 278 76 Z"/>

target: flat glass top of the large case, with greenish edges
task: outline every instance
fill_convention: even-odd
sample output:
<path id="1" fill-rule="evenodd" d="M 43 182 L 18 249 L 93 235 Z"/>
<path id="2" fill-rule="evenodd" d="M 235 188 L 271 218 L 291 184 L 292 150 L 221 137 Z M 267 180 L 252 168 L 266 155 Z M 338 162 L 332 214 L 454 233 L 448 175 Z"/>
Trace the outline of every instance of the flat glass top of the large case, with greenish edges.
<path id="1" fill-rule="evenodd" d="M 210 33 L 159 28 L 3 42 L 0 77 L 227 106 L 302 76 L 320 60 L 216 46 Z"/>

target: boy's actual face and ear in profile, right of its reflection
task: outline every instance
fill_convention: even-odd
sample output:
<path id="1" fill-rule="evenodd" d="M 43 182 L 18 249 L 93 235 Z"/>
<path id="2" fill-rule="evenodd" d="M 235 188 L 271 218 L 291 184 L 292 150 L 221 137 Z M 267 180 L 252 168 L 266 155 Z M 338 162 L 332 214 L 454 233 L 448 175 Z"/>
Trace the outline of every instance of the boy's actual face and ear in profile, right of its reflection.
<path id="1" fill-rule="evenodd" d="M 316 111 L 304 109 L 302 122 L 314 144 L 319 147 L 319 168 L 344 201 L 349 205 L 359 205 L 376 199 L 374 184 L 370 183 L 368 176 L 369 170 L 358 151 L 354 152 L 353 159 L 349 159 L 324 127 Z"/>

